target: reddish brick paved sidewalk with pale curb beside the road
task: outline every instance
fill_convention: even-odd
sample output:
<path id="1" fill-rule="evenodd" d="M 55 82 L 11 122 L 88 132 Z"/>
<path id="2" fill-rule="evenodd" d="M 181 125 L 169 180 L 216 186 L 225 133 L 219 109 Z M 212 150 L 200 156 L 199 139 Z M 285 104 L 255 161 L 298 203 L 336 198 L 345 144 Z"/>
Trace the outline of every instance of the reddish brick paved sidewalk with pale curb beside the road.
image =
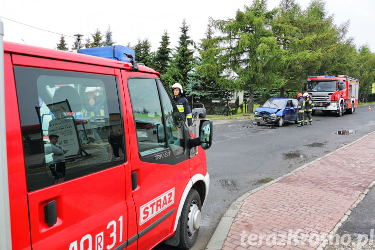
<path id="1" fill-rule="evenodd" d="M 374 152 L 370 133 L 239 198 L 206 249 L 321 247 L 375 180 Z"/>

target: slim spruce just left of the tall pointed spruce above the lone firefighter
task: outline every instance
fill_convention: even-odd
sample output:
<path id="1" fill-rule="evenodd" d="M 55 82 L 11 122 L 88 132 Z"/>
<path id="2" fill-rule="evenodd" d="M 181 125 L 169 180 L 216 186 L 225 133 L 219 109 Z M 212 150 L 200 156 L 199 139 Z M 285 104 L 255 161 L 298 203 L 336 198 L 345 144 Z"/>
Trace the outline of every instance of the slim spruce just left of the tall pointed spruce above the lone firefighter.
<path id="1" fill-rule="evenodd" d="M 171 52 L 169 45 L 169 35 L 167 31 L 164 31 L 164 35 L 161 37 L 160 47 L 157 49 L 152 63 L 153 69 L 158 71 L 161 75 L 166 73 L 169 66 Z"/>

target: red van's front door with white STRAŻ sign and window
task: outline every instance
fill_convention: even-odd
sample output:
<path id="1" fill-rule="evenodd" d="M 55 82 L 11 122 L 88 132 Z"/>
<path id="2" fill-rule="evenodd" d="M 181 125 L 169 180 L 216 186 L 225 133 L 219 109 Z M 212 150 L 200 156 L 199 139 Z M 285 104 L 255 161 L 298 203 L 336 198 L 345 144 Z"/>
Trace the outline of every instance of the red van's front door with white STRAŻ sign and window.
<path id="1" fill-rule="evenodd" d="M 131 170 L 138 248 L 148 249 L 172 233 L 184 187 L 190 181 L 189 148 L 182 117 L 157 78 L 126 78 L 130 115 Z M 126 80 L 125 80 L 126 79 Z M 188 134 L 188 133 L 187 133 Z"/>

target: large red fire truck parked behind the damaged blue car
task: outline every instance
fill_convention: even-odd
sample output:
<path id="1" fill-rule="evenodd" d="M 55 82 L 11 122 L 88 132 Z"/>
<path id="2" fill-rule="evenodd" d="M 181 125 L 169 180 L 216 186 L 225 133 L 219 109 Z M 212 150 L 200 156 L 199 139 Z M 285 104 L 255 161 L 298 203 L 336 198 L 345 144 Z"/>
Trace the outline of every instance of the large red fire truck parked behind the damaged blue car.
<path id="1" fill-rule="evenodd" d="M 313 98 L 315 110 L 353 113 L 359 100 L 359 80 L 346 75 L 310 76 L 307 79 L 307 92 Z"/>

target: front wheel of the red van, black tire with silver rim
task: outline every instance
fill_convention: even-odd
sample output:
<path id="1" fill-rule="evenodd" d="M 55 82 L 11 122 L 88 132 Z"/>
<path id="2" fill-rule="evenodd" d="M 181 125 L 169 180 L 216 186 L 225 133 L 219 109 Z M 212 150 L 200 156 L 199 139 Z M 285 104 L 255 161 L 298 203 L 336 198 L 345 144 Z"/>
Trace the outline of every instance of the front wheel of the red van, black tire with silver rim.
<path id="1" fill-rule="evenodd" d="M 199 193 L 191 189 L 181 212 L 179 248 L 190 249 L 194 245 L 199 233 L 201 210 Z"/>

